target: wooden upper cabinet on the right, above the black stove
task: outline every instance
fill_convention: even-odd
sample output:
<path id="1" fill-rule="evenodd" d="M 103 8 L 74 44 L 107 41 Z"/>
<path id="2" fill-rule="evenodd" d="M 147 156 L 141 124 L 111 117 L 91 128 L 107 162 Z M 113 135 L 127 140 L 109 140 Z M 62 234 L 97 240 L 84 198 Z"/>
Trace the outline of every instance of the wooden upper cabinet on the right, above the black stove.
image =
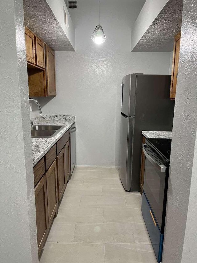
<path id="1" fill-rule="evenodd" d="M 173 62 L 172 62 L 172 77 L 171 77 L 171 87 L 170 87 L 170 98 L 171 99 L 175 99 L 175 95 L 176 95 L 176 84 L 177 84 L 177 77 L 178 77 L 179 53 L 180 53 L 180 40 L 181 40 L 181 32 L 175 35 L 174 53 L 173 53 Z"/>

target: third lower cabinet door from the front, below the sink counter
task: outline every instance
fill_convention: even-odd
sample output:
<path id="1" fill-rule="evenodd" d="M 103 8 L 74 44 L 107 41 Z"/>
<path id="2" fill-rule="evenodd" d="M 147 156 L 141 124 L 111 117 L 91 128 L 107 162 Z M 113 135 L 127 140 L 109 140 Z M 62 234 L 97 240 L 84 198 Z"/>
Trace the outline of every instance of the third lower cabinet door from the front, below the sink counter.
<path id="1" fill-rule="evenodd" d="M 60 200 L 66 188 L 66 182 L 67 182 L 65 147 L 58 154 L 56 160 L 57 160 L 57 172 L 58 172 L 58 200 Z"/>

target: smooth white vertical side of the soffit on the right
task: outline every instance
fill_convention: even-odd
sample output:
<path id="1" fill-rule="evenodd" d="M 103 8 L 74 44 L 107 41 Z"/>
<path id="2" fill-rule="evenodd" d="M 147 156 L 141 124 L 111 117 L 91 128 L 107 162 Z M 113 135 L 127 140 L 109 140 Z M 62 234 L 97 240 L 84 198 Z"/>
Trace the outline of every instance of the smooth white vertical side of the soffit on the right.
<path id="1" fill-rule="evenodd" d="M 131 30 L 131 51 L 169 0 L 147 0 Z"/>

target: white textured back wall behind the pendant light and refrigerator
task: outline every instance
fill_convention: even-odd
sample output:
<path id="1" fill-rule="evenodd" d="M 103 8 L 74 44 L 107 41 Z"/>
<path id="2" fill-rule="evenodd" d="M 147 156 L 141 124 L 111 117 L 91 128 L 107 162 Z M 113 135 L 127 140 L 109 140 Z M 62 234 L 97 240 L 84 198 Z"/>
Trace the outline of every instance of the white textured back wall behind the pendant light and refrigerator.
<path id="1" fill-rule="evenodd" d="M 43 113 L 76 115 L 78 165 L 118 165 L 122 77 L 169 74 L 170 53 L 130 52 L 131 27 L 143 3 L 101 0 L 107 40 L 100 46 L 90 39 L 98 24 L 98 1 L 81 0 L 77 10 L 69 10 L 76 52 L 55 52 L 57 96 L 38 101 Z"/>

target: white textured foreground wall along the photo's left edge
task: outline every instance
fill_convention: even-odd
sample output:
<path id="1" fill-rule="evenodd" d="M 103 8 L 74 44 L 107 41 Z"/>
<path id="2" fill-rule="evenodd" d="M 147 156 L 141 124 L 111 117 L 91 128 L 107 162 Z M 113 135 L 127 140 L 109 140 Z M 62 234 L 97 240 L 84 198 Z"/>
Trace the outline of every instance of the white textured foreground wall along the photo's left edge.
<path id="1" fill-rule="evenodd" d="M 23 1 L 0 8 L 0 261 L 38 263 Z"/>

